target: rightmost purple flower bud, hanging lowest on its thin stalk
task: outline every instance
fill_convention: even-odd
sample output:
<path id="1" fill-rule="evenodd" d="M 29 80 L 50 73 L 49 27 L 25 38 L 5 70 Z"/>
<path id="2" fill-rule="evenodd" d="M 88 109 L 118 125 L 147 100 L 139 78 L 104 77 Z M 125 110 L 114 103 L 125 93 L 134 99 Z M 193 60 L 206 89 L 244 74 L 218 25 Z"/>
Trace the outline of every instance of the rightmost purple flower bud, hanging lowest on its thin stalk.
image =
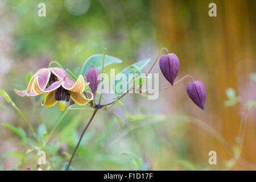
<path id="1" fill-rule="evenodd" d="M 206 91 L 201 81 L 193 81 L 187 86 L 187 93 L 191 100 L 204 110 Z"/>

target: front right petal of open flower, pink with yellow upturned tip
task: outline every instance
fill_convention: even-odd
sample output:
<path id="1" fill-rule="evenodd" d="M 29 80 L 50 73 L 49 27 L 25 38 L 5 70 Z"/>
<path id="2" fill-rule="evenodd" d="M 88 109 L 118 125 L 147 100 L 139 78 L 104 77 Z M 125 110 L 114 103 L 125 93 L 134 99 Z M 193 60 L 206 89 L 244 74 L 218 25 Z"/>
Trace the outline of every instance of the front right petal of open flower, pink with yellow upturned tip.
<path id="1" fill-rule="evenodd" d="M 69 90 L 71 92 L 78 92 L 78 93 L 84 92 L 85 82 L 84 82 L 84 77 L 82 75 L 79 75 L 79 78 L 77 78 L 75 84 L 72 82 L 66 81 L 66 79 L 67 77 L 65 78 L 65 81 L 62 83 L 62 87 L 64 89 Z"/>

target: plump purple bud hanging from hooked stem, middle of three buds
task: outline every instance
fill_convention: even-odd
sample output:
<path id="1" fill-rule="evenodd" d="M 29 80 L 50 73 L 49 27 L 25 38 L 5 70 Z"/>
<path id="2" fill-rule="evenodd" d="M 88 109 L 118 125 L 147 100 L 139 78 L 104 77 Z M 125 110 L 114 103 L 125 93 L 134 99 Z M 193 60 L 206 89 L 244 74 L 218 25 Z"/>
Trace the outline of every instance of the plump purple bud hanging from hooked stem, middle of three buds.
<path id="1" fill-rule="evenodd" d="M 180 68 L 179 58 L 175 53 L 167 53 L 160 57 L 159 66 L 166 80 L 174 85 L 174 80 L 177 77 Z"/>

